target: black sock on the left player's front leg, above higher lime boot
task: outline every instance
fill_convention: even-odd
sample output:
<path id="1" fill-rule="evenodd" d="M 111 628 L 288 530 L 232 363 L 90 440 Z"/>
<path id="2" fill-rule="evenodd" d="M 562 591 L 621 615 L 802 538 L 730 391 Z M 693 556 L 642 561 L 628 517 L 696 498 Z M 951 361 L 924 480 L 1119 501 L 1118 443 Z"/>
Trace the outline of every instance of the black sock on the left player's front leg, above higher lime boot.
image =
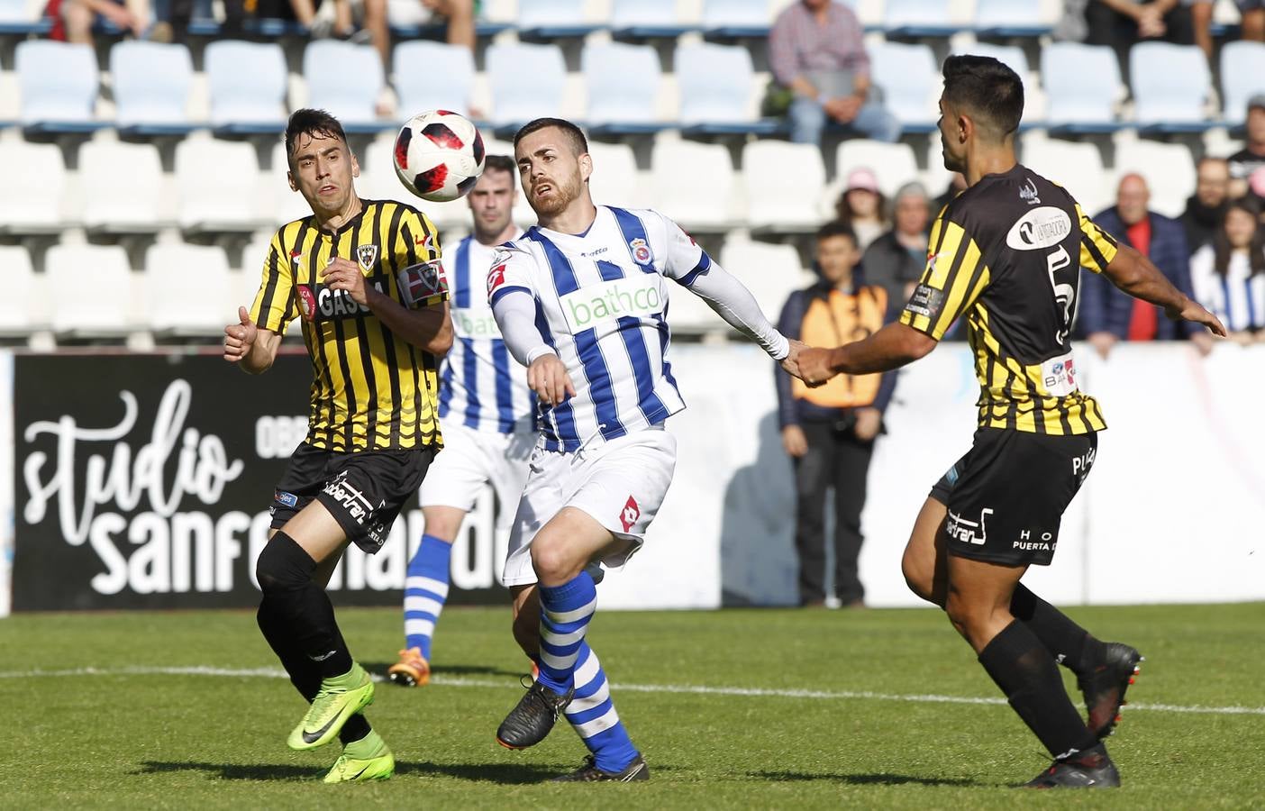
<path id="1" fill-rule="evenodd" d="M 352 654 L 334 620 L 325 590 L 312 581 L 316 562 L 290 535 L 277 533 L 259 553 L 256 577 L 268 614 L 295 647 L 315 663 L 321 678 L 352 669 Z"/>

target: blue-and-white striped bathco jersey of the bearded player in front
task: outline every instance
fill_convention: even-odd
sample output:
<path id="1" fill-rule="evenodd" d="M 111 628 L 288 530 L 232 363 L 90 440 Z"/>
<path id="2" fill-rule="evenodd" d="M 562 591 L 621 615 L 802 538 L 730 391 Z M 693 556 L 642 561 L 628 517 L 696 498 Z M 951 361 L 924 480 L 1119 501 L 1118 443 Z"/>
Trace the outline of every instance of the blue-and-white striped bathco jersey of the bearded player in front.
<path id="1" fill-rule="evenodd" d="M 493 305 L 531 295 L 535 324 L 576 396 L 541 409 L 550 450 L 578 450 L 662 423 L 686 407 L 668 363 L 667 280 L 688 287 L 711 258 L 650 210 L 597 206 L 579 235 L 531 228 L 506 243 L 487 278 Z"/>

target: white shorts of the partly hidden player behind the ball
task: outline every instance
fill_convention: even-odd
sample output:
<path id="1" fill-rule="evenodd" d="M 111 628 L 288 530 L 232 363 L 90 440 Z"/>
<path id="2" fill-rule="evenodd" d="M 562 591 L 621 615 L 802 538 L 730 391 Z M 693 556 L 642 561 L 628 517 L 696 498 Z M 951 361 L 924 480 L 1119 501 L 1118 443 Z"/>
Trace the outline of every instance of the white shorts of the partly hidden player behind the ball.
<path id="1" fill-rule="evenodd" d="M 510 526 L 514 510 L 528 481 L 528 459 L 536 434 L 493 434 L 460 423 L 440 420 L 444 449 L 421 482 L 417 501 L 423 507 L 457 507 L 469 512 L 484 485 L 491 485 L 501 502 L 497 529 Z"/>

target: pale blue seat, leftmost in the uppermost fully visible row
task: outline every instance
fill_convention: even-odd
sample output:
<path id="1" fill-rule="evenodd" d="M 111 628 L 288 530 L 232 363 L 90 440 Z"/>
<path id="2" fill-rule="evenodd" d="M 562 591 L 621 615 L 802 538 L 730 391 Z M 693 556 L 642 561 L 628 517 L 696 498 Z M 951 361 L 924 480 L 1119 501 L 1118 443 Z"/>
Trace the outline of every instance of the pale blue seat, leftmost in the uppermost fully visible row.
<path id="1" fill-rule="evenodd" d="M 106 125 L 94 118 L 99 76 L 91 46 L 27 39 L 18 43 L 14 65 L 23 127 L 91 132 Z"/>

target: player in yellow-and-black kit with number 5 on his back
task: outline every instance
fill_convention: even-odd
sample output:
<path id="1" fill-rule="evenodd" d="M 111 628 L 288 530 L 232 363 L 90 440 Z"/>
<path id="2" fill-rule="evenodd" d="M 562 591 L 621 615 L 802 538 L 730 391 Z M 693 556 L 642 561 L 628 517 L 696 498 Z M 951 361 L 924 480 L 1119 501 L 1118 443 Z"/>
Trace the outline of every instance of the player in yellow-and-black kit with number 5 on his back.
<path id="1" fill-rule="evenodd" d="M 1080 267 L 1225 335 L 1145 257 L 1101 232 L 1063 187 L 1018 164 L 1023 85 L 997 59 L 949 57 L 940 97 L 945 168 L 968 189 L 940 213 L 927 267 L 897 324 L 835 349 L 806 349 L 805 380 L 885 372 L 921 358 L 965 315 L 980 382 L 972 449 L 931 490 L 904 550 L 910 587 L 947 612 L 1054 763 L 1034 788 L 1111 787 L 1103 739 L 1141 660 L 1090 636 L 1020 578 L 1054 557 L 1063 511 L 1089 474 L 1098 431 L 1077 385 L 1069 333 Z M 1088 724 L 1059 668 L 1078 677 Z"/>

